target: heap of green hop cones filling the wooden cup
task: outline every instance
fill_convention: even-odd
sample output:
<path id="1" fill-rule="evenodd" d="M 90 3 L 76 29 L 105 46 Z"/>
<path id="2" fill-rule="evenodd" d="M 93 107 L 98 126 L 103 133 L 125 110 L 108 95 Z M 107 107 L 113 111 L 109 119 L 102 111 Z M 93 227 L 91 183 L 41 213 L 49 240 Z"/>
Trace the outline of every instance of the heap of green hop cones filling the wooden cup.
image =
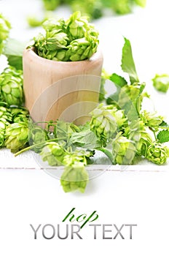
<path id="1" fill-rule="evenodd" d="M 35 52 L 54 61 L 82 61 L 89 59 L 98 47 L 98 31 L 74 12 L 65 21 L 50 18 L 42 24 L 44 34 L 34 38 Z"/>

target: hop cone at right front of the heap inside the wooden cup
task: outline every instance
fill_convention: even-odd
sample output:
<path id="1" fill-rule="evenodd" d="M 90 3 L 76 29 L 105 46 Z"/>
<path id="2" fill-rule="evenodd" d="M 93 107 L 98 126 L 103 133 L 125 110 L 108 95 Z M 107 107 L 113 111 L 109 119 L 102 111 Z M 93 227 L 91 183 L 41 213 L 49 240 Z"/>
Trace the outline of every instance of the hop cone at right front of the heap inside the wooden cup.
<path id="1" fill-rule="evenodd" d="M 70 61 L 83 61 L 90 59 L 98 47 L 98 39 L 86 35 L 86 37 L 75 39 L 68 45 L 67 56 Z"/>

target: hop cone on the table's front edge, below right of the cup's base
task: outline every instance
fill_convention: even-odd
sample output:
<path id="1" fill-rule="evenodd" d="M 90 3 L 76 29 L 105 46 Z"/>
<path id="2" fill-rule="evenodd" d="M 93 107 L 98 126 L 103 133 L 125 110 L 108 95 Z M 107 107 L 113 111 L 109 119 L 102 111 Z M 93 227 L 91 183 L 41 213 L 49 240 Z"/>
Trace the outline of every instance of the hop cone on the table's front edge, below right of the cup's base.
<path id="1" fill-rule="evenodd" d="M 112 142 L 112 156 L 114 165 L 131 165 L 135 157 L 135 143 L 121 133 Z"/>

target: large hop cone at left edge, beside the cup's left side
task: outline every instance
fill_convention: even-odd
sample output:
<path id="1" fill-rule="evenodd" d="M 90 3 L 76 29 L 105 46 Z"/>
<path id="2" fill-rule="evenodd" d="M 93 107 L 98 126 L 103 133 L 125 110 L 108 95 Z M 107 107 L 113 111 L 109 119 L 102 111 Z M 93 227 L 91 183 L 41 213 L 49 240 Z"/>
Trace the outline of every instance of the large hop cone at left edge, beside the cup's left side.
<path id="1" fill-rule="evenodd" d="M 0 75 L 0 99 L 7 105 L 23 104 L 23 72 L 13 67 L 4 69 Z"/>

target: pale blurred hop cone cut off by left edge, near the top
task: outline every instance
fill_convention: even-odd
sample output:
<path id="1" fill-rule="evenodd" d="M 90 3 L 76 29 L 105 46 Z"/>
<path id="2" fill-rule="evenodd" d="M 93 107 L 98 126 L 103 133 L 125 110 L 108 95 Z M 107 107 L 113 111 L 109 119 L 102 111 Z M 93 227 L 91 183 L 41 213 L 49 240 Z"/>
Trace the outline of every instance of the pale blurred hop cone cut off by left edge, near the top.
<path id="1" fill-rule="evenodd" d="M 9 30 L 11 29 L 9 21 L 4 18 L 0 13 L 0 54 L 4 47 L 4 40 L 9 36 Z"/>

